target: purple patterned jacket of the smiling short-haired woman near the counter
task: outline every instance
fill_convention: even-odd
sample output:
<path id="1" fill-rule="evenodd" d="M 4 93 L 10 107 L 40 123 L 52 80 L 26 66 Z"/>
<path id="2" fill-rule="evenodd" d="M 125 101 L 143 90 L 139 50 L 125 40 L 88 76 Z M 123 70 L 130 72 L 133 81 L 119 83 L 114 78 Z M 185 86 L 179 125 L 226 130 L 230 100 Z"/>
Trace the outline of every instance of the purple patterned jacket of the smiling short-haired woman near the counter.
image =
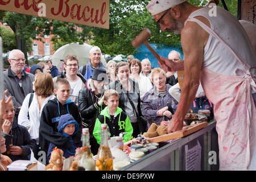
<path id="1" fill-rule="evenodd" d="M 171 85 L 166 84 L 167 93 L 164 96 L 159 96 L 158 93 L 156 93 L 155 86 L 153 86 L 152 89 L 144 94 L 144 97 L 141 101 L 142 114 L 145 118 L 148 119 L 148 124 L 151 125 L 151 123 L 156 123 L 157 125 L 160 125 L 161 121 L 170 120 L 170 118 L 167 118 L 166 116 L 160 117 L 156 114 L 156 112 L 163 107 L 171 105 L 174 112 L 176 111 L 178 102 L 168 92 L 170 88 Z"/>

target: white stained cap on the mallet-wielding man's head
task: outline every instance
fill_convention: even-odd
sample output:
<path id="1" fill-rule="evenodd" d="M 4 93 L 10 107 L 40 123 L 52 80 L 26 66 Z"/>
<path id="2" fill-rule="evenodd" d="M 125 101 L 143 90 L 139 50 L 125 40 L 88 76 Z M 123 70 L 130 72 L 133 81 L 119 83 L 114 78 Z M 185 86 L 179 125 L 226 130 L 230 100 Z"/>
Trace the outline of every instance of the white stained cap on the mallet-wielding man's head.
<path id="1" fill-rule="evenodd" d="M 152 0 L 147 5 L 147 10 L 152 16 L 179 5 L 187 0 Z"/>

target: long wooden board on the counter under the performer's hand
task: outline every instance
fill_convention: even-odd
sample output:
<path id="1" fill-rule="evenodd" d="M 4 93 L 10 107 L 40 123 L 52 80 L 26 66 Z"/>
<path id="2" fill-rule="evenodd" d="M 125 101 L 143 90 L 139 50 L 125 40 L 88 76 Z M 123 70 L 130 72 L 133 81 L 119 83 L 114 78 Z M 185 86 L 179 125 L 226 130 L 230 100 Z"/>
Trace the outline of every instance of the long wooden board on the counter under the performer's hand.
<path id="1" fill-rule="evenodd" d="M 181 137 L 185 137 L 189 134 L 192 134 L 200 129 L 203 129 L 205 126 L 208 125 L 208 122 L 202 122 L 202 123 L 198 123 L 195 125 L 191 125 L 189 126 L 185 126 L 183 127 L 182 130 L 180 131 L 176 131 L 174 133 L 169 133 L 169 134 L 165 134 L 165 135 L 161 135 L 158 137 L 154 137 L 154 138 L 146 138 L 148 140 L 148 142 L 163 142 L 163 141 L 167 141 L 167 140 L 171 140 L 171 139 L 175 139 L 175 138 L 181 138 Z"/>

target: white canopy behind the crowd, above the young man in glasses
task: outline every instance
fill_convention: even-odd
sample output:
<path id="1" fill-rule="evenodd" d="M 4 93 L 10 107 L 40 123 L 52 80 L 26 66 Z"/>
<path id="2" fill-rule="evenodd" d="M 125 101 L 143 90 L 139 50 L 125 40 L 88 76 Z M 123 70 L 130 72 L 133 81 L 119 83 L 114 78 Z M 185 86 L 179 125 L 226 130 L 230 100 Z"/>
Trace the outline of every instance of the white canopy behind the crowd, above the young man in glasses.
<path id="1" fill-rule="evenodd" d="M 58 69 L 61 66 L 62 61 L 61 59 L 64 59 L 65 56 L 67 56 L 69 53 L 72 53 L 76 55 L 79 59 L 79 67 L 82 67 L 83 65 L 87 64 L 89 61 L 89 51 L 93 46 L 90 46 L 89 44 L 79 44 L 79 43 L 70 43 L 66 44 L 57 51 L 52 56 L 52 64 L 55 65 Z M 101 62 L 106 66 L 106 60 L 104 59 L 104 56 L 101 56 Z"/>

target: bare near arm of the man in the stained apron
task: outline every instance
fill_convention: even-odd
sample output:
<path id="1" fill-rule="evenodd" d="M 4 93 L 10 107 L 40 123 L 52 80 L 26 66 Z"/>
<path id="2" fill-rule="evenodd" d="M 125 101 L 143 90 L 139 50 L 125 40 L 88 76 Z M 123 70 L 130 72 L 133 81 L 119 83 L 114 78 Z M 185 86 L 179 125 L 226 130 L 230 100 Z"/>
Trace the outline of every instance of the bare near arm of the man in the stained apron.
<path id="1" fill-rule="evenodd" d="M 179 105 L 168 125 L 168 133 L 182 129 L 184 117 L 196 96 L 206 37 L 205 31 L 194 22 L 188 22 L 181 32 L 181 45 L 185 57 L 184 82 Z"/>

